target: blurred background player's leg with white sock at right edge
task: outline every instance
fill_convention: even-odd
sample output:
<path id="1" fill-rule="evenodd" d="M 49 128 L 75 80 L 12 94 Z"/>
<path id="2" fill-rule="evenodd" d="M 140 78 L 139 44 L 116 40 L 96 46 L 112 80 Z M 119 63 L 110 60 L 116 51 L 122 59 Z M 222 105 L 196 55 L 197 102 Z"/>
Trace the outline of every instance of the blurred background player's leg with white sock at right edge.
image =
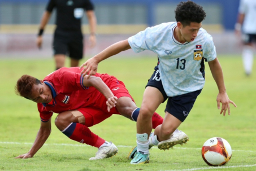
<path id="1" fill-rule="evenodd" d="M 253 35 L 254 34 L 243 35 L 244 47 L 242 49 L 242 62 L 247 76 L 251 74 L 253 69 Z"/>

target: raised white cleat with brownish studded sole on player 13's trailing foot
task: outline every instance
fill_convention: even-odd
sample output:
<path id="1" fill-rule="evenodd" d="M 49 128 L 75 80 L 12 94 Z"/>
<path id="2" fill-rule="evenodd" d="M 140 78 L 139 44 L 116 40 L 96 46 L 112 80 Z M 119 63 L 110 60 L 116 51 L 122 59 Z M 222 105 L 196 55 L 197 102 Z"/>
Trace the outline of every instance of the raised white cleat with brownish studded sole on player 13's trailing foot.
<path id="1" fill-rule="evenodd" d="M 160 150 L 169 150 L 169 148 L 172 148 L 176 144 L 183 145 L 183 143 L 186 144 L 187 141 L 189 141 L 188 135 L 183 131 L 175 130 L 170 139 L 159 142 L 157 147 Z"/>

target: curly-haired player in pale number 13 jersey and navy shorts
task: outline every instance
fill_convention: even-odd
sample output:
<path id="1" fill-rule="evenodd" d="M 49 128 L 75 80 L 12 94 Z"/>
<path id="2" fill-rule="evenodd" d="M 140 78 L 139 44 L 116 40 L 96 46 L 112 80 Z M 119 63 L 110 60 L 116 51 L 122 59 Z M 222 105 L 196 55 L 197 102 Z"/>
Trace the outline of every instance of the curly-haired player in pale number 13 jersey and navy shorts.
<path id="1" fill-rule="evenodd" d="M 158 55 L 158 65 L 147 82 L 137 120 L 137 147 L 129 157 L 131 164 L 149 162 L 149 148 L 157 145 L 166 150 L 175 144 L 188 141 L 188 135 L 176 130 L 189 115 L 197 96 L 205 84 L 205 65 L 207 60 L 212 76 L 218 86 L 218 108 L 225 116 L 229 103 L 226 93 L 222 67 L 216 58 L 214 42 L 210 34 L 202 29 L 205 11 L 192 1 L 180 2 L 175 10 L 176 22 L 163 23 L 147 28 L 128 40 L 107 47 L 85 62 L 82 74 L 96 74 L 98 63 L 121 51 L 132 49 L 134 52 L 151 50 Z M 161 103 L 167 100 L 166 115 L 150 135 L 151 117 Z M 133 154 L 134 153 L 134 154 Z"/>

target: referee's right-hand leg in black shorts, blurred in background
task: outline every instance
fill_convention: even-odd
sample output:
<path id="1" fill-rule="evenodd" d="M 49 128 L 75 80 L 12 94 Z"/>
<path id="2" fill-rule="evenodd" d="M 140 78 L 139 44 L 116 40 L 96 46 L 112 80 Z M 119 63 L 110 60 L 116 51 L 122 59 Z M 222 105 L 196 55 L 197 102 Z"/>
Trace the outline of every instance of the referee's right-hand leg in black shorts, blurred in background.
<path id="1" fill-rule="evenodd" d="M 72 32 L 71 42 L 68 47 L 70 49 L 70 67 L 78 67 L 80 59 L 83 58 L 83 34 L 81 32 Z"/>

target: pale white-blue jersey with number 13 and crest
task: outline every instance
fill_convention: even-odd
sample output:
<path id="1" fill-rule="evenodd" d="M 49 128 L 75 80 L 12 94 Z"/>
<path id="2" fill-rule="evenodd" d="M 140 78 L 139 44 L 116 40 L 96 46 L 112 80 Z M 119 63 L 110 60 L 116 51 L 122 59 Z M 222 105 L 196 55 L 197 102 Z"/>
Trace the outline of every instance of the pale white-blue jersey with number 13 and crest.
<path id="1" fill-rule="evenodd" d="M 158 55 L 160 77 L 168 97 L 202 89 L 202 57 L 207 61 L 216 58 L 214 42 L 206 30 L 200 28 L 194 41 L 182 44 L 173 36 L 176 26 L 176 22 L 162 23 L 128 38 L 134 52 L 151 50 Z"/>

